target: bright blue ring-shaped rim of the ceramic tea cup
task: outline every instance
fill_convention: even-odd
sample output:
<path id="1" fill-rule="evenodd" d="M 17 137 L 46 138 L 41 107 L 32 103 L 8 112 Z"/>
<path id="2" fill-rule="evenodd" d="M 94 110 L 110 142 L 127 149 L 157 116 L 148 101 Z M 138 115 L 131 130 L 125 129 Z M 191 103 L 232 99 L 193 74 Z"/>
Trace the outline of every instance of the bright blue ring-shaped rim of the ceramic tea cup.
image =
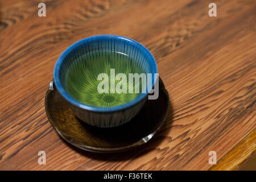
<path id="1" fill-rule="evenodd" d="M 141 51 L 144 51 L 149 55 L 148 60 L 150 60 L 150 63 L 152 65 L 152 70 L 151 70 L 152 72 L 151 73 L 152 74 L 158 73 L 157 72 L 158 70 L 157 70 L 157 67 L 156 67 L 156 61 L 155 61 L 154 57 L 152 56 L 151 52 L 148 51 L 148 49 L 146 47 L 144 47 L 141 43 L 138 43 L 133 39 L 125 38 L 124 36 L 118 36 L 118 35 L 96 35 L 96 36 L 90 36 L 88 38 L 79 40 L 78 42 L 72 44 L 67 49 L 65 49 L 65 51 L 63 53 L 61 53 L 59 59 L 57 59 L 57 62 L 55 64 L 55 68 L 54 68 L 54 72 L 53 72 L 53 81 L 54 81 L 54 84 L 55 84 L 57 90 L 61 94 L 61 96 L 63 96 L 65 98 L 65 100 L 67 100 L 71 104 L 73 104 L 77 107 L 80 107 L 81 109 L 90 110 L 90 111 L 97 111 L 97 112 L 109 112 L 109 111 L 123 110 L 123 109 L 127 109 L 128 107 L 131 107 L 131 106 L 137 104 L 139 101 L 142 101 L 143 98 L 145 98 L 148 95 L 148 90 L 147 90 L 146 93 L 139 94 L 138 97 L 136 97 L 134 100 L 132 100 L 130 102 L 127 102 L 126 104 L 122 104 L 122 105 L 118 105 L 118 106 L 112 106 L 112 107 L 97 107 L 97 106 L 83 104 L 83 103 L 77 101 L 75 98 L 71 97 L 65 91 L 65 89 L 61 85 L 61 81 L 60 81 L 60 77 L 59 77 L 60 68 L 61 68 L 61 65 L 63 64 L 63 62 L 65 60 L 65 57 L 67 55 L 69 55 L 69 53 L 73 49 L 75 49 L 77 46 L 79 46 L 79 44 L 86 43 L 91 39 L 102 39 L 102 38 L 105 38 L 105 37 L 112 37 L 112 38 L 115 38 L 115 39 L 125 39 L 127 41 L 138 44 Z M 152 87 L 155 85 L 157 78 L 158 77 L 154 76 L 154 84 L 152 85 Z"/>

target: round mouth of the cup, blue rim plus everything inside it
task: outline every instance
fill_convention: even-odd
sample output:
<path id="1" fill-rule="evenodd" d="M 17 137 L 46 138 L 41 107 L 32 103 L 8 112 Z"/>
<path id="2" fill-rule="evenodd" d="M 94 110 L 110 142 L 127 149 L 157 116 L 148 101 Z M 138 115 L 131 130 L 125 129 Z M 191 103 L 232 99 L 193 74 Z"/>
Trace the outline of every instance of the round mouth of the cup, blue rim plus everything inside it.
<path id="1" fill-rule="evenodd" d="M 104 78 L 99 76 L 101 73 Z M 117 79 L 119 73 L 126 78 Z M 154 85 L 157 69 L 151 53 L 134 40 L 100 35 L 80 40 L 66 49 L 57 60 L 53 77 L 61 95 L 77 106 L 118 109 L 135 104 L 147 95 L 148 89 L 143 90 L 142 80 L 139 81 L 139 93 L 135 93 L 136 83 L 129 82 L 129 74 L 134 73 L 146 76 L 151 73 L 150 81 Z M 108 93 L 98 90 L 102 79 L 108 82 Z M 126 86 L 127 93 L 115 90 L 118 83 L 118 88 Z"/>

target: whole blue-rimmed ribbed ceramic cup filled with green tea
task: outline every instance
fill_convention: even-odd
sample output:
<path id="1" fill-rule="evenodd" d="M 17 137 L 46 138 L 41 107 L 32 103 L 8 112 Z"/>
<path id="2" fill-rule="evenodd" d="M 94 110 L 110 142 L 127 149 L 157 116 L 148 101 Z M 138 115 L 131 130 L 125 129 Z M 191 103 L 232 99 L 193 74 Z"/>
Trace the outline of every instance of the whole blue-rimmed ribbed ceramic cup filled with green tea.
<path id="1" fill-rule="evenodd" d="M 120 88 L 126 89 L 127 93 L 117 93 L 118 79 L 115 75 L 113 81 L 113 71 L 117 75 L 122 73 L 122 83 L 129 74 L 151 74 L 147 78 L 151 88 L 147 85 L 143 89 L 139 84 L 141 91 L 135 93 L 135 84 L 129 84 L 126 80 L 127 85 Z M 142 44 L 122 36 L 98 35 L 68 47 L 56 62 L 53 80 L 58 92 L 81 121 L 97 127 L 114 127 L 130 121 L 142 109 L 149 90 L 158 79 L 154 73 L 157 73 L 155 59 Z M 104 79 L 101 88 L 105 92 L 102 93 L 99 85 Z M 129 88 L 134 89 L 134 93 L 129 93 Z"/>

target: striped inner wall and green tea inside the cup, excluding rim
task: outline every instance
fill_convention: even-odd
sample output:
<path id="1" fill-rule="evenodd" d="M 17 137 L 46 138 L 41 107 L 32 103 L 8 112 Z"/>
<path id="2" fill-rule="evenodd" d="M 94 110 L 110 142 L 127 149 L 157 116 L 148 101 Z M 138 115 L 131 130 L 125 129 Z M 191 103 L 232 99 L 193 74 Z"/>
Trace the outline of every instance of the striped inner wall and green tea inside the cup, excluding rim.
<path id="1" fill-rule="evenodd" d="M 127 93 L 111 93 L 110 69 L 115 70 L 115 75 L 126 75 L 127 80 L 115 80 L 115 85 L 120 81 L 126 82 Z M 97 80 L 100 73 L 108 75 L 109 93 L 99 93 L 97 90 L 101 82 Z M 65 59 L 60 77 L 65 91 L 75 100 L 96 107 L 112 107 L 126 104 L 139 96 L 134 90 L 135 82 L 128 82 L 129 73 L 151 73 L 147 55 L 141 52 L 140 45 L 110 36 L 77 44 Z M 133 93 L 128 93 L 130 87 Z M 141 81 L 139 88 L 142 93 Z"/>

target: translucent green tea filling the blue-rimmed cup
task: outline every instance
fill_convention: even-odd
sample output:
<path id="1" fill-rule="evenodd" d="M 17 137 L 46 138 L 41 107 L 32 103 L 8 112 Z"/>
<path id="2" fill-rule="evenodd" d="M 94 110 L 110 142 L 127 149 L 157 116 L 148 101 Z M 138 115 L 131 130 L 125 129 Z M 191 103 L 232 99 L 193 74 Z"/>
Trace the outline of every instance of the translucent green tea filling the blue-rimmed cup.
<path id="1" fill-rule="evenodd" d="M 110 93 L 110 69 L 115 69 L 115 76 L 124 73 L 127 77 L 127 93 Z M 97 80 L 100 73 L 106 73 L 109 78 L 109 93 L 99 93 L 97 88 L 102 80 Z M 69 66 L 65 75 L 65 90 L 75 100 L 91 106 L 112 107 L 126 104 L 141 94 L 141 79 L 139 81 L 140 92 L 129 93 L 129 73 L 144 73 L 141 65 L 131 60 L 129 56 L 117 52 L 90 52 L 76 59 Z M 122 80 L 121 80 L 122 81 Z M 115 85 L 120 80 L 115 81 Z"/>

